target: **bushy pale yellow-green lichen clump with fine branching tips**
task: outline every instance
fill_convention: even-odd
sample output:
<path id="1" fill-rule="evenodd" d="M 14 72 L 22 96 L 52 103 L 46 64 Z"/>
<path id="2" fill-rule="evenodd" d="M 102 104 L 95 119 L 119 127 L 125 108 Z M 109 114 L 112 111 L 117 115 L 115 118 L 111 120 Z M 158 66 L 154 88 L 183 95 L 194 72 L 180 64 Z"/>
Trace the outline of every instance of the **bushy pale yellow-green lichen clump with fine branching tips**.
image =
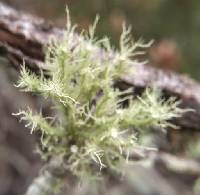
<path id="1" fill-rule="evenodd" d="M 148 44 L 132 42 L 130 29 L 124 26 L 119 50 L 114 51 L 108 38 L 95 38 L 95 27 L 96 21 L 88 32 L 77 36 L 68 15 L 64 39 L 48 45 L 43 64 L 47 77 L 24 66 L 17 85 L 55 102 L 54 118 L 31 110 L 19 115 L 32 132 L 41 132 L 42 156 L 59 156 L 64 167 L 78 177 L 100 175 L 95 167 L 117 170 L 119 162 L 127 161 L 129 149 L 137 145 L 141 131 L 165 128 L 168 119 L 181 113 L 176 101 L 164 102 L 155 90 L 133 99 L 130 90 L 115 89 L 114 81 L 139 63 L 130 58 Z M 124 100 L 126 108 L 121 104 Z"/>

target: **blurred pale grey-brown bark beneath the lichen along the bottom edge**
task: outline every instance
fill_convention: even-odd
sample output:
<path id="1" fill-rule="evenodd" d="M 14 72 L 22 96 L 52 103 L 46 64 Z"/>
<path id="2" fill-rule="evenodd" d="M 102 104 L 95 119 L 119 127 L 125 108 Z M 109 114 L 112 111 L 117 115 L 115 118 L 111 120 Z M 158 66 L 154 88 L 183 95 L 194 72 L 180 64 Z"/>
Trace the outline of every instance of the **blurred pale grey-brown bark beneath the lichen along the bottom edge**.
<path id="1" fill-rule="evenodd" d="M 60 172 L 61 167 L 49 166 L 30 185 L 26 195 L 55 195 L 52 186 L 58 186 L 58 195 L 193 195 L 193 186 L 200 176 L 200 164 L 194 160 L 177 158 L 156 151 L 140 151 L 144 158 L 134 164 L 122 165 L 123 179 L 111 171 L 98 185 L 83 183 L 81 188 L 70 175 Z M 63 169 L 62 169 L 63 170 Z M 151 180 L 153 178 L 153 180 Z M 62 184 L 67 184 L 62 185 Z M 70 186 L 70 187 L 69 187 Z M 60 191 L 60 193 L 59 193 Z"/>

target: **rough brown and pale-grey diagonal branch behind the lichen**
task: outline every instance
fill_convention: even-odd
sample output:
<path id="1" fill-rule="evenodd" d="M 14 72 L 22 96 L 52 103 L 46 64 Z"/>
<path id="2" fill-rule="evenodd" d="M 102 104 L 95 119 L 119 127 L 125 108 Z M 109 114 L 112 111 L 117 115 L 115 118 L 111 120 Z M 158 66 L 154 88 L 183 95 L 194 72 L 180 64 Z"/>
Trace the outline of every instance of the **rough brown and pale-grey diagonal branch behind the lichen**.
<path id="1" fill-rule="evenodd" d="M 0 3 L 0 55 L 6 56 L 16 68 L 23 59 L 36 71 L 44 60 L 43 46 L 51 37 L 60 38 L 62 35 L 63 29 Z M 123 77 L 117 85 L 122 88 L 133 86 L 137 92 L 153 84 L 166 96 L 177 96 L 182 100 L 183 108 L 192 108 L 195 112 L 185 114 L 174 123 L 183 129 L 200 129 L 200 85 L 197 82 L 149 65 L 136 66 L 135 71 L 134 76 Z"/>

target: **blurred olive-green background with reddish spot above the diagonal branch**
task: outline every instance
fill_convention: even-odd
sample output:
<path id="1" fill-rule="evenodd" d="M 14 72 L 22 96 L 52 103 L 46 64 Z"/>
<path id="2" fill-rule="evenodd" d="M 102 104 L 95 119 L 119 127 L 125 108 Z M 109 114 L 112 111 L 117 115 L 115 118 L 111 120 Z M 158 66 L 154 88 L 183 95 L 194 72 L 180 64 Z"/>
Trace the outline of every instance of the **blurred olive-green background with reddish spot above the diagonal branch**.
<path id="1" fill-rule="evenodd" d="M 108 35 L 113 44 L 122 22 L 133 29 L 135 39 L 155 40 L 150 50 L 153 64 L 200 79 L 200 1 L 198 0 L 1 0 L 17 9 L 65 24 L 65 5 L 72 20 L 87 28 L 98 13 L 97 34 Z M 156 54 L 155 54 L 156 53 Z"/>

